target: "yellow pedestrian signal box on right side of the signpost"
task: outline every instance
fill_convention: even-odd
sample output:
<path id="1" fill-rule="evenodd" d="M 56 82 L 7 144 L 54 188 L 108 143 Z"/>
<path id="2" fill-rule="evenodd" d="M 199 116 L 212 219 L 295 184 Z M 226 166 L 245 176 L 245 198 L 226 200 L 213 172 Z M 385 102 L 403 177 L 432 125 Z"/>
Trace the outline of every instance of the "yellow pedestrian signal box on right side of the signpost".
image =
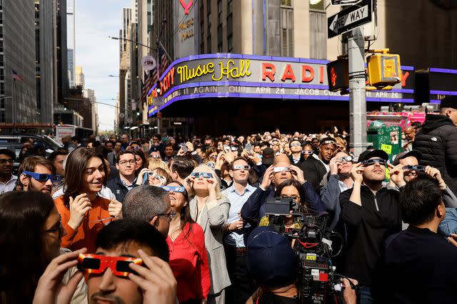
<path id="1" fill-rule="evenodd" d="M 401 82 L 400 56 L 389 54 L 388 48 L 373 52 L 368 57 L 368 82 L 376 88 Z"/>

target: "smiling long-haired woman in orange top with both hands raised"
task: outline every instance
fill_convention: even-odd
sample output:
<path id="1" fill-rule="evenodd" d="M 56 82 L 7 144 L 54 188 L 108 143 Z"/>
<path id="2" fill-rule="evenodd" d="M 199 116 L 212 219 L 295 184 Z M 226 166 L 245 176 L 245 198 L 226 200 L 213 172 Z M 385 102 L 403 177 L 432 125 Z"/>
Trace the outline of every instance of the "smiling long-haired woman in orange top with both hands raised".
<path id="1" fill-rule="evenodd" d="M 62 246 L 76 251 L 86 247 L 93 253 L 99 231 L 121 216 L 122 204 L 99 196 L 106 185 L 106 163 L 93 149 L 79 148 L 66 159 L 64 195 L 54 199 L 67 234 Z"/>

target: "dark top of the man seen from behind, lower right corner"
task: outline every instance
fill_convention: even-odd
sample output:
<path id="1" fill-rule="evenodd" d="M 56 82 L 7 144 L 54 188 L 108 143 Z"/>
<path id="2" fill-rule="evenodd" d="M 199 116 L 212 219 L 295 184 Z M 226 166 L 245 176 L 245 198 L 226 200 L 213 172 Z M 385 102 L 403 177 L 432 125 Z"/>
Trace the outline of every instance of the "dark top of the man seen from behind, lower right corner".
<path id="1" fill-rule="evenodd" d="M 429 229 L 409 226 L 387 239 L 371 295 L 375 303 L 457 303 L 456 273 L 457 248 Z"/>

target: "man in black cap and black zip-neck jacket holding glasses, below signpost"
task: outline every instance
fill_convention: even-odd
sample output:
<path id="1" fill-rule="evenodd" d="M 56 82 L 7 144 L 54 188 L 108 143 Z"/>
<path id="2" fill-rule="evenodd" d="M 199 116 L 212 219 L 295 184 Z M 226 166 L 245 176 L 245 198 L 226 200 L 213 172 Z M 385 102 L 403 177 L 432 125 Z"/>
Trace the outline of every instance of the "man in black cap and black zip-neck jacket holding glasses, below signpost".
<path id="1" fill-rule="evenodd" d="M 371 303 L 371 277 L 381 257 L 386 237 L 401 231 L 398 191 L 383 187 L 388 155 L 382 150 L 362 152 L 353 165 L 353 188 L 340 195 L 340 219 L 346 224 L 346 255 L 338 272 L 361 285 L 361 303 Z M 403 187 L 403 170 L 391 172 L 391 179 Z"/>

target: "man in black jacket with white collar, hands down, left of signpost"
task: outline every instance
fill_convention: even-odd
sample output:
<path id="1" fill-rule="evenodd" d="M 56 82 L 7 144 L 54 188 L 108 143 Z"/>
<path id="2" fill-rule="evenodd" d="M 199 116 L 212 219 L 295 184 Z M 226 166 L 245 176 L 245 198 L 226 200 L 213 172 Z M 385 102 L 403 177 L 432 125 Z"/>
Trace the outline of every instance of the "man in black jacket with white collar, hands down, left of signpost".
<path id="1" fill-rule="evenodd" d="M 321 190 L 320 183 L 323 176 L 330 170 L 329 162 L 336 150 L 336 141 L 332 137 L 321 140 L 319 154 L 308 157 L 300 166 L 305 172 L 306 180 L 313 186 L 316 192 Z"/>

